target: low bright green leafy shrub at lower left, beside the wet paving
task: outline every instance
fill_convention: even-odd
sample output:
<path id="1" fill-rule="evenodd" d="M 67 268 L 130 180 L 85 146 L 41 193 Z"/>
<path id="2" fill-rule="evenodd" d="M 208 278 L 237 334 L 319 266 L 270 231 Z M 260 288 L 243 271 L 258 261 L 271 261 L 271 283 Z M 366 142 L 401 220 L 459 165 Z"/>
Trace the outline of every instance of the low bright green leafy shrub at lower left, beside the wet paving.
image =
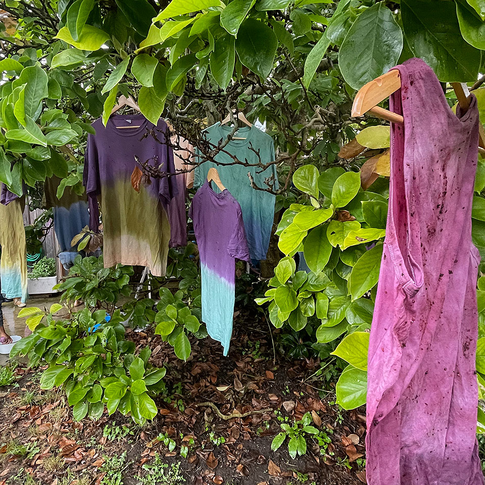
<path id="1" fill-rule="evenodd" d="M 54 320 L 60 308 L 55 304 L 50 312 L 23 309 L 22 315 L 36 318 L 30 322 L 33 333 L 14 345 L 11 356 L 27 356 L 30 366 L 41 360 L 48 363 L 40 387 L 62 386 L 77 421 L 86 415 L 99 419 L 105 406 L 110 415 L 119 410 L 137 424 L 153 419 L 157 406 L 151 396 L 164 390 L 166 370 L 148 364 L 148 347 L 133 354 L 134 343 L 124 340 L 121 312 L 116 310 L 109 321 L 106 311 L 88 309 L 70 320 Z"/>

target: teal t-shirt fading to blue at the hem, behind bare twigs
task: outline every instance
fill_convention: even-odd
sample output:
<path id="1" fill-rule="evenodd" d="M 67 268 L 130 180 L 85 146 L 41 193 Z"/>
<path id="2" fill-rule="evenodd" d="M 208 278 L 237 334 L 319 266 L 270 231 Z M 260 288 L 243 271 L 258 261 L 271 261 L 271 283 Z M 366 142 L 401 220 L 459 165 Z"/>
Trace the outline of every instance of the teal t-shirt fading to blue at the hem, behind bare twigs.
<path id="1" fill-rule="evenodd" d="M 230 126 L 221 126 L 216 123 L 204 131 L 205 138 L 215 146 L 220 140 L 225 140 L 231 133 Z M 231 140 L 224 150 L 238 158 L 240 161 L 247 160 L 249 163 L 259 163 L 259 158 L 250 147 L 258 151 L 261 162 L 269 163 L 274 161 L 274 143 L 271 136 L 263 133 L 256 126 L 240 128 L 237 130 L 238 137 L 245 137 L 245 140 Z M 196 152 L 200 154 L 200 152 Z M 234 163 L 234 160 L 227 154 L 219 152 L 215 160 L 219 163 Z M 203 159 L 198 159 L 203 161 Z M 271 165 L 264 172 L 259 167 L 246 167 L 244 165 L 217 165 L 211 161 L 204 162 L 196 168 L 194 186 L 200 187 L 207 178 L 211 167 L 217 168 L 222 183 L 231 192 L 243 211 L 244 226 L 248 236 L 248 245 L 253 260 L 266 259 L 268 252 L 271 228 L 274 219 L 275 196 L 269 192 L 255 190 L 251 187 L 248 172 L 254 177 L 256 185 L 267 188 L 264 180 L 274 177 L 275 188 L 278 188 L 278 177 L 276 166 Z M 261 173 L 259 173 L 261 172 Z M 217 190 L 217 189 L 215 189 Z"/>

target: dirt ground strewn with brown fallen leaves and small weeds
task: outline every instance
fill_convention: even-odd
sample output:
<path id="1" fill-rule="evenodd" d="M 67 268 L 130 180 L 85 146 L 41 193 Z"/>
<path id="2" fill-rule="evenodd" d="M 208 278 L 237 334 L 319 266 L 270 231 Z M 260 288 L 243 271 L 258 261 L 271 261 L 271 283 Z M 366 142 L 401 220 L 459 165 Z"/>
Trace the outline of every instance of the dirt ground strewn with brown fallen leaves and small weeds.
<path id="1" fill-rule="evenodd" d="M 41 391 L 39 369 L 20 365 L 17 382 L 0 387 L 0 485 L 365 482 L 363 410 L 339 410 L 332 384 L 322 389 L 314 375 L 320 362 L 274 356 L 272 336 L 266 322 L 241 314 L 228 357 L 208 337 L 191 342 L 184 363 L 152 332 L 129 331 L 167 367 L 159 415 L 143 427 L 119 413 L 75 423 L 64 393 Z M 280 423 L 307 412 L 328 443 L 306 434 L 305 455 L 292 459 L 288 439 L 272 451 Z"/>

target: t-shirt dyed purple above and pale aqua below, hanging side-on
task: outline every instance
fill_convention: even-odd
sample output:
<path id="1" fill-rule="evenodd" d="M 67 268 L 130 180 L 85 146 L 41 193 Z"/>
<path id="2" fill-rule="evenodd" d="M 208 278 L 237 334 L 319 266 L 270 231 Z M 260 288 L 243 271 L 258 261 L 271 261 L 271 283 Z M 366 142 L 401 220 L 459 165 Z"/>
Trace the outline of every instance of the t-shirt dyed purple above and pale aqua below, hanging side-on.
<path id="1" fill-rule="evenodd" d="M 202 273 L 202 320 L 227 355 L 234 314 L 234 258 L 250 261 L 243 215 L 228 190 L 216 193 L 209 182 L 190 206 Z"/>

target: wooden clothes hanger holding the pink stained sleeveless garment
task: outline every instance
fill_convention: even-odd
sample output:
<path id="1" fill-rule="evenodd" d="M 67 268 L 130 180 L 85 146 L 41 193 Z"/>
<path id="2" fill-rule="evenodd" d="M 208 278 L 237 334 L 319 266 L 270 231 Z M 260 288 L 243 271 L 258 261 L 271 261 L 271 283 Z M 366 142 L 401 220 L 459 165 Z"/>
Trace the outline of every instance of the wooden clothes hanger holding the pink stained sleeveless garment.
<path id="1" fill-rule="evenodd" d="M 470 106 L 470 92 L 468 86 L 461 82 L 452 82 L 455 90 L 458 104 L 466 112 Z M 401 88 L 401 75 L 397 69 L 393 69 L 382 76 L 375 78 L 362 86 L 357 92 L 354 104 L 352 105 L 352 116 L 362 116 L 364 113 L 371 112 L 378 118 L 391 121 L 393 123 L 404 123 L 404 118 L 397 113 L 385 110 L 380 106 L 376 106 L 381 101 L 396 92 Z M 483 126 L 478 123 L 478 150 L 480 153 L 485 153 L 485 132 Z"/>

